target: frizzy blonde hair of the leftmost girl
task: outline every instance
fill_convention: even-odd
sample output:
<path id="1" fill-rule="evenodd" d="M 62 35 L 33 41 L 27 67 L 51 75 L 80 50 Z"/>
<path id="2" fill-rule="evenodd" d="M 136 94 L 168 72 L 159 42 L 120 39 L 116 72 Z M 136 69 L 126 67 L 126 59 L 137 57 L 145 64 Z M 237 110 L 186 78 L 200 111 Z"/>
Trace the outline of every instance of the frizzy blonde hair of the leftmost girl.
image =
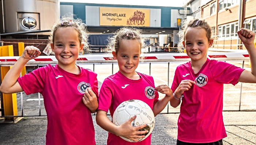
<path id="1" fill-rule="evenodd" d="M 51 32 L 50 32 L 48 45 L 50 45 L 50 43 L 53 43 L 54 34 L 55 34 L 56 30 L 60 27 L 72 27 L 72 28 L 74 28 L 78 32 L 78 37 L 79 37 L 80 44 L 84 44 L 83 51 L 87 52 L 89 50 L 88 35 L 87 35 L 88 32 L 87 32 L 86 24 L 83 23 L 82 19 L 78 19 L 78 18 L 76 18 L 75 15 L 72 15 L 72 14 L 71 14 L 71 16 L 68 16 L 68 15 L 63 16 L 60 20 L 57 20 L 53 24 L 53 26 L 51 28 Z M 68 34 L 63 34 L 63 35 L 68 35 Z"/>

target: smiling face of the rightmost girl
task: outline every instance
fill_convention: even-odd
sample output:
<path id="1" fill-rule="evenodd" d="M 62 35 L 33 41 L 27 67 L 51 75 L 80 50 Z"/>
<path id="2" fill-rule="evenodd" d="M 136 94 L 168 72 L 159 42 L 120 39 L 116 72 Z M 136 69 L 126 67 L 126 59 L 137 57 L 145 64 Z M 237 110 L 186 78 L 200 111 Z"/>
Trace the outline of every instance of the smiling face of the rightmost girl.
<path id="1" fill-rule="evenodd" d="M 206 61 L 208 47 L 212 46 L 213 40 L 208 41 L 204 28 L 188 28 L 182 43 L 191 61 Z"/>

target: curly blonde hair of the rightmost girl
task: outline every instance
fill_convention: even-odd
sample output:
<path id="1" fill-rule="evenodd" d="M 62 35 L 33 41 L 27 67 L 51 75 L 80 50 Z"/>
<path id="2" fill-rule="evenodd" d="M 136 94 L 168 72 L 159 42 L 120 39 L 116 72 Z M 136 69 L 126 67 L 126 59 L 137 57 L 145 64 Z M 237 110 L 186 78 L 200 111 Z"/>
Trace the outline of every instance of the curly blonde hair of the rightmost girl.
<path id="1" fill-rule="evenodd" d="M 206 22 L 205 19 L 198 19 L 194 16 L 189 16 L 186 19 L 184 19 L 182 22 L 181 30 L 178 32 L 178 37 L 180 37 L 180 40 L 178 42 L 178 50 L 182 53 L 184 52 L 184 47 L 182 42 L 185 41 L 185 33 L 188 30 L 188 28 L 204 28 L 206 30 L 206 37 L 208 41 L 212 39 L 212 29 L 210 24 Z"/>

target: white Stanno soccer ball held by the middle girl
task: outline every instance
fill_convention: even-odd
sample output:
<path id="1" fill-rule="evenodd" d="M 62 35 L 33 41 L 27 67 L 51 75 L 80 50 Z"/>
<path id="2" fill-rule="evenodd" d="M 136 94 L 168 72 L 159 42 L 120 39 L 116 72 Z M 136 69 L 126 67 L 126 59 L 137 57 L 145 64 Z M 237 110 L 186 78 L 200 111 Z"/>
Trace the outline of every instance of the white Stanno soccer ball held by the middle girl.
<path id="1" fill-rule="evenodd" d="M 145 138 L 147 138 L 154 129 L 155 116 L 151 108 L 148 106 L 148 104 L 146 104 L 141 100 L 127 100 L 121 103 L 119 106 L 117 106 L 113 114 L 112 122 L 115 125 L 119 126 L 123 124 L 125 121 L 127 121 L 128 119 L 130 119 L 131 117 L 133 117 L 134 115 L 136 115 L 136 119 L 134 119 L 133 122 L 131 123 L 132 126 L 148 124 L 146 127 L 140 129 L 140 130 L 148 130 L 148 133 L 141 134 L 141 135 L 145 135 L 146 136 Z M 121 137 L 121 138 L 129 142 L 135 142 L 124 137 Z M 142 141 L 145 138 L 138 138 L 138 139 L 139 141 Z"/>

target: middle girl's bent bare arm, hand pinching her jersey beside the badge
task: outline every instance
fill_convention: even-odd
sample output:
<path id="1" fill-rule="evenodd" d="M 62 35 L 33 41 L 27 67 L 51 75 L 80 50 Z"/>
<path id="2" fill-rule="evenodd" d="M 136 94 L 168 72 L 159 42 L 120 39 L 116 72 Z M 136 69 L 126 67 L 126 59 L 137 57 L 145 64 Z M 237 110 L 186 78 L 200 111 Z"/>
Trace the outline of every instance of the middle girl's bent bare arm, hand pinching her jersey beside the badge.
<path id="1" fill-rule="evenodd" d="M 165 96 L 161 100 L 158 100 L 153 107 L 153 113 L 155 116 L 157 116 L 157 114 L 159 114 L 165 108 L 172 98 L 173 91 L 167 85 L 159 85 L 155 88 L 155 90 L 165 94 Z"/>

